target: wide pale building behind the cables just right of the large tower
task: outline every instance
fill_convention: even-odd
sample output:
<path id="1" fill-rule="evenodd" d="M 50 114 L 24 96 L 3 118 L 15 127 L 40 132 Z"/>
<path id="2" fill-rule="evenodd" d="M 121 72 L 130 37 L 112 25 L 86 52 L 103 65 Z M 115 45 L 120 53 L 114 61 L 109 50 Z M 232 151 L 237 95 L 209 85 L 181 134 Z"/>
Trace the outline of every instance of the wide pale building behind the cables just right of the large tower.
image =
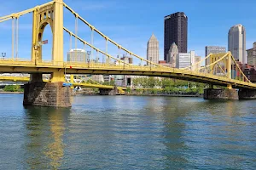
<path id="1" fill-rule="evenodd" d="M 84 49 L 71 49 L 67 52 L 67 61 L 71 62 L 87 62 L 87 54 Z"/>

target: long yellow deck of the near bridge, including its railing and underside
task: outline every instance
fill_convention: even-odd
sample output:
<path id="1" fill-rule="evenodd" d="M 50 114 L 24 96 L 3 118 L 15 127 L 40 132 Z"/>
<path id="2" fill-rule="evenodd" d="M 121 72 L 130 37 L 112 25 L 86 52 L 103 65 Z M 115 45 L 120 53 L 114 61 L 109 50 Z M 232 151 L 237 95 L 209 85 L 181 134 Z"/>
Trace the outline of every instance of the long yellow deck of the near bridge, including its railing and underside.
<path id="1" fill-rule="evenodd" d="M 135 75 L 153 77 L 171 77 L 191 82 L 204 82 L 226 86 L 232 84 L 236 88 L 256 88 L 252 82 L 243 82 L 227 77 L 216 76 L 204 72 L 181 70 L 169 67 L 113 65 L 105 63 L 57 62 L 40 60 L 37 63 L 31 59 L 0 59 L 0 72 L 3 73 L 51 73 L 65 70 L 67 74 L 109 74 Z"/>

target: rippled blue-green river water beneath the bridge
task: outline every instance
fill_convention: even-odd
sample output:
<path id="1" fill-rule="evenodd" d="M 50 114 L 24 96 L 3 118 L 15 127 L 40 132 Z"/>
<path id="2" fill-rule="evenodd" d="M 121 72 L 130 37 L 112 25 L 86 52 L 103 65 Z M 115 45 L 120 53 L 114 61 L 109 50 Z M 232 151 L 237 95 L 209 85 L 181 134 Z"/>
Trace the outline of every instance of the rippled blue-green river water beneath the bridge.
<path id="1" fill-rule="evenodd" d="M 256 169 L 256 100 L 0 94 L 0 169 Z"/>

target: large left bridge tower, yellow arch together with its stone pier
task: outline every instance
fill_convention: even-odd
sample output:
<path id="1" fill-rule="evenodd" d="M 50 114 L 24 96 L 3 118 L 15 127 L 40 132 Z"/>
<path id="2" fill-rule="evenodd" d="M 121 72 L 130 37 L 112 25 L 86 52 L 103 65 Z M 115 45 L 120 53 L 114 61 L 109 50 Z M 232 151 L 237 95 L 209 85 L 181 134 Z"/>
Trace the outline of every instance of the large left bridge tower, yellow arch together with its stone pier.
<path id="1" fill-rule="evenodd" d="M 32 60 L 42 63 L 42 37 L 49 25 L 53 36 L 52 62 L 63 64 L 63 0 L 35 8 L 32 19 Z M 23 105 L 70 107 L 71 90 L 63 87 L 64 69 L 53 71 L 50 82 L 43 82 L 42 73 L 31 75 L 31 82 L 24 87 Z"/>

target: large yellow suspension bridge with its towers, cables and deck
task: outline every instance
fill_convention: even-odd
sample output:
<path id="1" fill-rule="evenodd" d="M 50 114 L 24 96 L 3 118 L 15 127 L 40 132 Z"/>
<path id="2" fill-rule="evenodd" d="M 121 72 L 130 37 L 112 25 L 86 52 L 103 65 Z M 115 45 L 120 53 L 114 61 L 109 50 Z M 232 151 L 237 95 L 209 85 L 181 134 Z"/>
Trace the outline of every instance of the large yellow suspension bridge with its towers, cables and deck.
<path id="1" fill-rule="evenodd" d="M 73 14 L 74 31 L 70 31 L 63 25 L 64 13 L 67 10 Z M 18 31 L 19 19 L 25 14 L 32 13 L 32 56 L 31 58 L 20 58 L 18 56 Z M 66 13 L 65 13 L 66 14 Z M 107 74 L 107 75 L 137 75 L 152 77 L 171 77 L 192 82 L 204 82 L 212 85 L 226 86 L 232 88 L 256 89 L 256 84 L 250 82 L 241 71 L 236 59 L 230 52 L 226 54 L 209 54 L 206 59 L 210 59 L 210 65 L 195 69 L 195 65 L 201 65 L 205 59 L 188 68 L 170 68 L 132 53 L 119 43 L 114 42 L 110 37 L 96 29 L 95 26 L 70 8 L 63 0 L 54 0 L 34 8 L 29 8 L 15 14 L 0 17 L 0 23 L 12 20 L 12 57 L 0 59 L 0 72 L 3 73 L 29 73 L 31 82 L 41 82 L 42 74 L 51 74 L 49 82 L 65 82 L 66 74 Z M 79 34 L 79 22 L 90 28 L 90 42 L 84 40 Z M 51 27 L 53 35 L 52 59 L 42 58 L 42 37 L 45 26 Z M 82 43 L 85 49 L 90 49 L 88 62 L 66 62 L 64 61 L 63 42 L 64 33 L 67 33 L 70 42 L 70 49 L 75 48 L 78 42 Z M 94 45 L 94 37 L 102 37 L 105 48 L 97 48 Z M 138 65 L 131 65 L 125 60 L 114 57 L 108 51 L 109 44 L 116 48 L 118 54 L 125 53 L 127 56 L 137 59 Z M 98 62 L 99 55 L 104 56 L 105 62 Z M 115 55 L 116 56 L 116 55 Z M 84 56 L 88 58 L 88 56 Z M 92 60 L 95 58 L 95 60 Z M 236 75 L 232 76 L 232 71 L 236 70 Z"/>

